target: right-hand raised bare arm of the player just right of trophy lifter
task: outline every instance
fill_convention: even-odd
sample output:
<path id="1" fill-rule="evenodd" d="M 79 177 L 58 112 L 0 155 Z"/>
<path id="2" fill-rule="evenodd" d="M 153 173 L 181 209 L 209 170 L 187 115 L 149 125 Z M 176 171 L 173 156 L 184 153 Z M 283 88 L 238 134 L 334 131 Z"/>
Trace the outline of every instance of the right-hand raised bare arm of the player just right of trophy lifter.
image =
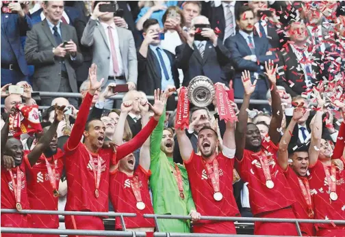
<path id="1" fill-rule="evenodd" d="M 281 128 L 281 121 L 283 121 L 283 108 L 281 107 L 281 98 L 277 89 L 277 66 L 274 67 L 273 61 L 269 60 L 268 63 L 265 62 L 266 76 L 268 81 L 270 81 L 271 97 L 272 97 L 272 120 L 270 122 L 270 127 L 268 128 L 268 135 L 274 144 L 279 143 L 280 133 L 279 128 Z"/>

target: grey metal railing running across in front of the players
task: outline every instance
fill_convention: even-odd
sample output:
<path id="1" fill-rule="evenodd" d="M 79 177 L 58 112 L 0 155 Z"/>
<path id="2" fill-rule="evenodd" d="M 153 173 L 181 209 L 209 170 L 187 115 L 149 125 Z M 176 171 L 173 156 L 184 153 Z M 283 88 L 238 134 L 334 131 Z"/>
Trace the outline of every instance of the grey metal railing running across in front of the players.
<path id="1" fill-rule="evenodd" d="M 134 213 L 118 213 L 118 212 L 77 212 L 77 211 L 53 211 L 53 210 L 21 210 L 18 212 L 15 209 L 1 209 L 1 214 L 3 213 L 23 213 L 23 214 L 61 214 L 61 215 L 83 215 L 83 216 L 97 216 L 97 217 L 120 217 L 121 225 L 123 226 L 122 232 L 117 231 L 97 231 L 97 230 L 74 230 L 74 229 L 31 229 L 31 228 L 12 228 L 12 227 L 1 227 L 1 232 L 3 233 L 20 233 L 20 234 L 73 234 L 73 235 L 101 235 L 101 236 L 146 236 L 144 232 L 127 232 L 125 221 L 123 217 L 136 217 Z M 202 236 L 214 236 L 214 237 L 232 237 L 238 236 L 233 234 L 196 234 L 196 233 L 164 233 L 159 232 L 159 225 L 157 219 L 180 219 L 189 220 L 190 216 L 181 215 L 168 215 L 168 214 L 144 214 L 144 218 L 153 218 L 155 221 L 156 231 L 154 236 L 170 236 L 170 237 L 202 237 Z M 345 221 L 341 220 L 315 220 L 315 219 L 277 219 L 277 218 L 249 218 L 249 217 L 209 217 L 202 216 L 201 220 L 208 221 L 246 221 L 246 222 L 274 222 L 274 223 L 294 223 L 296 225 L 296 230 L 298 236 L 303 236 L 299 223 L 323 223 L 323 224 L 340 224 L 345 225 Z M 241 235 L 248 236 L 248 235 Z M 260 236 L 257 236 L 260 237 Z M 262 236 L 263 237 L 263 236 Z M 296 236 L 294 236 L 296 237 Z"/>

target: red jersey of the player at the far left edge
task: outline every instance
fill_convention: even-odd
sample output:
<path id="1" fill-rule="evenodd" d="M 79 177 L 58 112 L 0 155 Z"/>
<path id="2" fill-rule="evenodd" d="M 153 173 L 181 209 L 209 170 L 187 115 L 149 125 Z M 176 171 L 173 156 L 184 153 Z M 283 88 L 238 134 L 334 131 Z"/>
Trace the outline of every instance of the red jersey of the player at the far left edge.
<path id="1" fill-rule="evenodd" d="M 27 199 L 27 181 L 25 176 L 25 162 L 18 166 L 21 170 L 21 206 L 23 210 L 30 209 Z M 17 169 L 12 168 L 14 182 L 17 182 Z M 16 209 L 16 198 L 14 197 L 13 184 L 10 171 L 1 167 L 1 208 Z"/>

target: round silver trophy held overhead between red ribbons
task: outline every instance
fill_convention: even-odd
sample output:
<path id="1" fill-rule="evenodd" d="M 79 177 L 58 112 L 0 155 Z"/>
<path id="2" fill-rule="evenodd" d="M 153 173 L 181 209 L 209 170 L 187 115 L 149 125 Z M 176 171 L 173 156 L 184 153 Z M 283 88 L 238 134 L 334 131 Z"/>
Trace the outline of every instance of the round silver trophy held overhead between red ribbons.
<path id="1" fill-rule="evenodd" d="M 188 99 L 197 107 L 207 107 L 215 94 L 214 84 L 207 76 L 195 76 L 188 85 Z"/>

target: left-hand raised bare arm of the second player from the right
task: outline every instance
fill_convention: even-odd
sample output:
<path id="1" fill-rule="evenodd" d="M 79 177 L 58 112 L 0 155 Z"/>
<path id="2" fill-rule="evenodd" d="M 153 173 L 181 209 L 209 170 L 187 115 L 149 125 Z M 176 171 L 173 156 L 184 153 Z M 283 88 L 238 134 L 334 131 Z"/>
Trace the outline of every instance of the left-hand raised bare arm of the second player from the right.
<path id="1" fill-rule="evenodd" d="M 290 121 L 288 128 L 286 128 L 283 137 L 281 137 L 281 141 L 279 142 L 279 150 L 278 150 L 278 164 L 281 169 L 286 170 L 288 168 L 288 160 L 289 160 L 289 152 L 288 147 L 291 141 L 292 131 L 297 124 L 297 121 L 303 117 L 305 110 L 303 109 L 303 104 L 299 104 L 296 109 L 294 109 L 294 115 L 292 116 L 292 120 Z"/>

